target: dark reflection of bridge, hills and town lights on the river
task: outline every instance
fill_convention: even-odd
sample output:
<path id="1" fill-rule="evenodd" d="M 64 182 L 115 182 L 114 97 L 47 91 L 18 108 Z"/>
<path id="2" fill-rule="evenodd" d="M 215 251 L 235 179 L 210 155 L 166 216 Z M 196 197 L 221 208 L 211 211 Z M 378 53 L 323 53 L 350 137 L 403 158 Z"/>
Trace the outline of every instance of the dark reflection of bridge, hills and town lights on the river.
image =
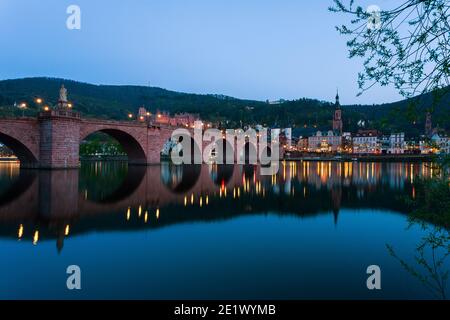
<path id="1" fill-rule="evenodd" d="M 157 228 L 186 221 L 276 212 L 332 214 L 342 208 L 405 212 L 399 201 L 415 197 L 421 163 L 284 162 L 277 175 L 244 166 L 128 167 L 86 163 L 67 171 L 0 169 L 0 236 L 55 238 L 90 230 Z M 181 209 L 182 208 L 182 209 Z"/>

